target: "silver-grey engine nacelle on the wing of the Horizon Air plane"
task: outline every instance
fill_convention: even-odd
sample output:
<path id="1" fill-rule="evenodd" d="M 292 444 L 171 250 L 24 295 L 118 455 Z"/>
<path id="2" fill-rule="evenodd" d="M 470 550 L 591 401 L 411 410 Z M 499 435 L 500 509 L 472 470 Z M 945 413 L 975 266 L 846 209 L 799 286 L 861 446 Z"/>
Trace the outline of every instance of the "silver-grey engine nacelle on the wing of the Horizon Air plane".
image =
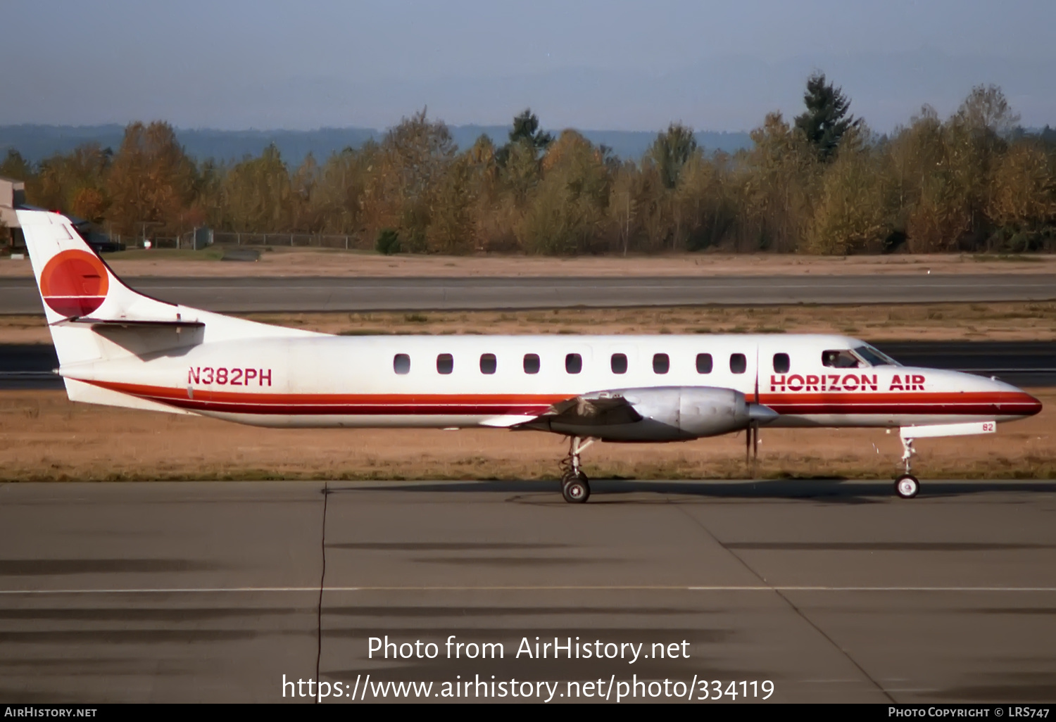
<path id="1" fill-rule="evenodd" d="M 584 394 L 579 406 L 542 418 L 548 431 L 605 441 L 684 441 L 740 431 L 776 416 L 733 388 L 660 386 Z"/>

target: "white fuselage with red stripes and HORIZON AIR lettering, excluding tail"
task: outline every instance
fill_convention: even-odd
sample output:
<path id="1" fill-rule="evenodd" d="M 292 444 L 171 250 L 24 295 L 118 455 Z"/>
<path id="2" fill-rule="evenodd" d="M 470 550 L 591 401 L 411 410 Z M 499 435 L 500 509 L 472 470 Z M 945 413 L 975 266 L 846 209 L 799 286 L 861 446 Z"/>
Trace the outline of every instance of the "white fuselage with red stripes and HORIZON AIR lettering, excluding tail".
<path id="1" fill-rule="evenodd" d="M 1015 386 L 979 376 L 823 365 L 825 352 L 862 345 L 841 336 L 784 334 L 306 335 L 206 341 L 178 353 L 63 365 L 62 375 L 266 426 L 508 426 L 582 394 L 661 386 L 733 388 L 777 412 L 771 426 L 1006 421 L 1040 410 Z M 666 364 L 656 355 L 665 355 Z M 710 355 L 710 364 L 698 363 L 700 355 Z M 787 369 L 775 355 L 787 355 Z"/>

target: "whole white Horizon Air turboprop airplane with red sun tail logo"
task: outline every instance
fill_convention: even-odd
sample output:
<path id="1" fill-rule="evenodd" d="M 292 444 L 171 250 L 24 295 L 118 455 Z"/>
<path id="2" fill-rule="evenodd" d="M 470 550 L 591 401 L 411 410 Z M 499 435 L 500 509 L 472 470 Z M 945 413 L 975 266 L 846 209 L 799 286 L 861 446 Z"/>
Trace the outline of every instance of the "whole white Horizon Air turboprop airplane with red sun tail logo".
<path id="1" fill-rule="evenodd" d="M 595 441 L 761 426 L 989 434 L 1041 402 L 996 378 L 903 366 L 846 336 L 356 336 L 284 328 L 138 293 L 59 213 L 17 210 L 71 401 L 260 426 L 535 430 L 569 439 L 562 495 L 590 496 Z"/>

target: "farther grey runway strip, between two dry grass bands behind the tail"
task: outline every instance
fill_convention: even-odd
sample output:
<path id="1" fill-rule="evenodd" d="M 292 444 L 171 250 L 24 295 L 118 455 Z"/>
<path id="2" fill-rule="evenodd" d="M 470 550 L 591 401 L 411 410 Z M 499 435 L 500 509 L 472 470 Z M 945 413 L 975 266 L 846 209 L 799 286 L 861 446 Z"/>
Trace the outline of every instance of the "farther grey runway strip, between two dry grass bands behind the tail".
<path id="1" fill-rule="evenodd" d="M 938 303 L 1056 299 L 1056 276 L 694 278 L 129 278 L 165 301 L 220 312 L 448 310 L 572 306 Z M 33 279 L 0 279 L 0 309 L 39 314 Z"/>

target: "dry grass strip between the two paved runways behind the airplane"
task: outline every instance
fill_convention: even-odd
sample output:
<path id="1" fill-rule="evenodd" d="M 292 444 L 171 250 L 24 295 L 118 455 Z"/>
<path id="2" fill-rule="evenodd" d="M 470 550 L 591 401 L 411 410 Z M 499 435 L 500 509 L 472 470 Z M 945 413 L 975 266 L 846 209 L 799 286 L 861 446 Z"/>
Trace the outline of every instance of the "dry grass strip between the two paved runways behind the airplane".
<path id="1" fill-rule="evenodd" d="M 327 334 L 845 334 L 870 341 L 1056 339 L 1056 302 L 250 314 Z M 0 344 L 51 343 L 43 316 L 0 316 Z"/>

